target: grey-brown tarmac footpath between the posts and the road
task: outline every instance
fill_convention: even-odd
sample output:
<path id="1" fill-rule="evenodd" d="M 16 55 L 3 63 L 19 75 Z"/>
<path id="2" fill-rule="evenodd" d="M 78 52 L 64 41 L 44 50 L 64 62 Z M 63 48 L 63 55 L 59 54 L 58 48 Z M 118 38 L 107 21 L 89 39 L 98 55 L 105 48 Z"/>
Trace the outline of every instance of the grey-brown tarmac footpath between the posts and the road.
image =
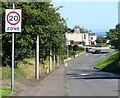
<path id="1" fill-rule="evenodd" d="M 24 89 L 24 93 L 20 96 L 65 96 L 65 85 L 65 67 L 62 64 L 60 68 L 42 80 L 37 87 Z"/>

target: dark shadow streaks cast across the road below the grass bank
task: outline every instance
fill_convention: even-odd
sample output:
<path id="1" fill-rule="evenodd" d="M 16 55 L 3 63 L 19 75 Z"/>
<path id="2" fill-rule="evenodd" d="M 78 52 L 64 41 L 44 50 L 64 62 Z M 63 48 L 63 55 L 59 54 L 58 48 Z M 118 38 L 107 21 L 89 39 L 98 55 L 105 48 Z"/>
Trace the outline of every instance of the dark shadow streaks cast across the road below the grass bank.
<path id="1" fill-rule="evenodd" d="M 72 70 L 72 72 L 73 73 L 66 74 L 69 79 L 120 79 L 120 74 L 103 72 L 96 69 Z"/>

